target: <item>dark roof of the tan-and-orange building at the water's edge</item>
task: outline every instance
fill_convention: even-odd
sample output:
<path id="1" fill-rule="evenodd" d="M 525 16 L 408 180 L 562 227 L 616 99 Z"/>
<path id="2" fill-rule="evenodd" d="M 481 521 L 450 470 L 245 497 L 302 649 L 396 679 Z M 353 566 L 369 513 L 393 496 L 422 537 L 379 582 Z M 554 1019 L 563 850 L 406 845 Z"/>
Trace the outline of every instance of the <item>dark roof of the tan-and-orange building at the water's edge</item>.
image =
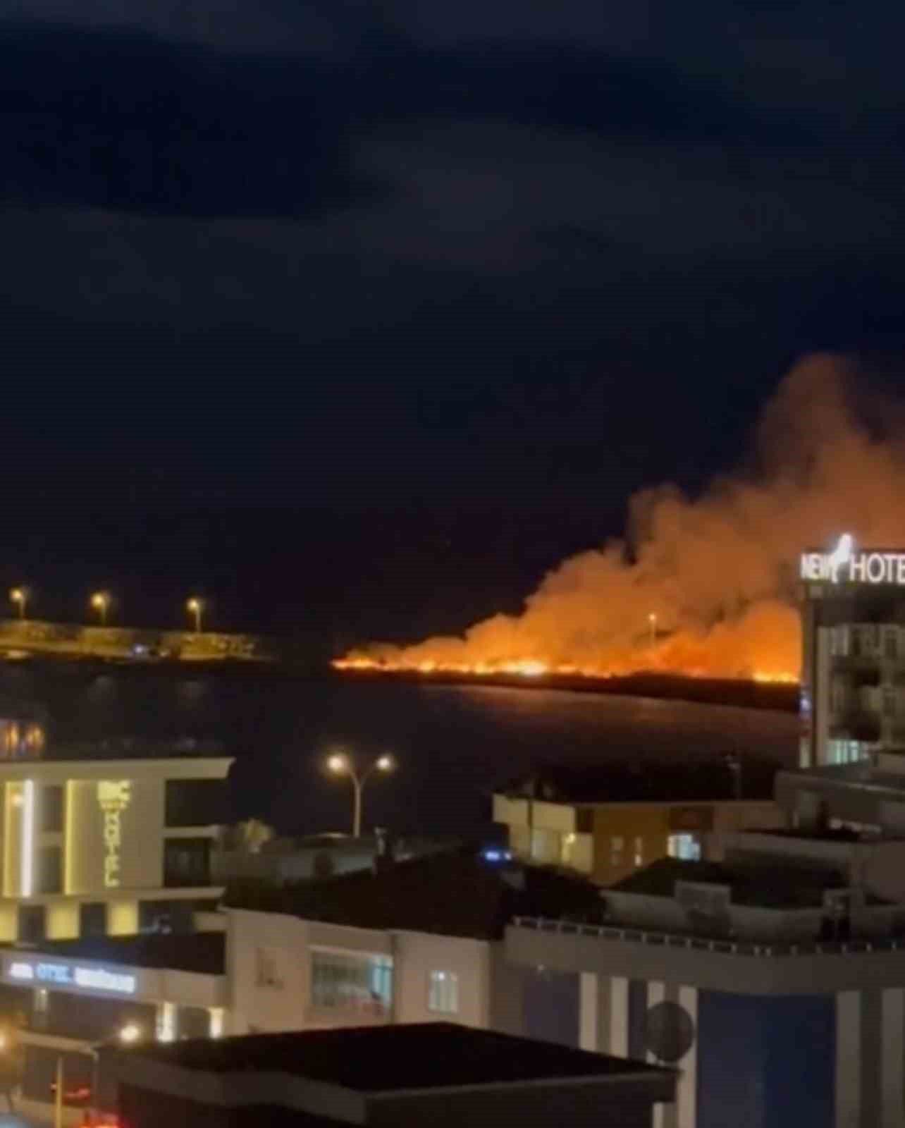
<path id="1" fill-rule="evenodd" d="M 772 760 L 741 761 L 744 797 L 771 800 L 777 768 Z M 553 803 L 702 803 L 732 802 L 735 786 L 735 773 L 722 760 L 668 764 L 626 756 L 624 761 L 604 765 L 541 767 L 535 775 L 497 791 Z"/>

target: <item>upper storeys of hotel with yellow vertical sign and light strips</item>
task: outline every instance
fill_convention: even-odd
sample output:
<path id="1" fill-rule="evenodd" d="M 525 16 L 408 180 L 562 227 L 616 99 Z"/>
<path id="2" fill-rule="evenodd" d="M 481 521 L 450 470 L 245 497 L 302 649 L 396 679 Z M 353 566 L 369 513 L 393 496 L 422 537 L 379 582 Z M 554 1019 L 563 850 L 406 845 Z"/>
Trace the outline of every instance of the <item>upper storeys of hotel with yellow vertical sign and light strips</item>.
<path id="1" fill-rule="evenodd" d="M 178 929 L 222 892 L 222 757 L 0 759 L 0 943 Z"/>

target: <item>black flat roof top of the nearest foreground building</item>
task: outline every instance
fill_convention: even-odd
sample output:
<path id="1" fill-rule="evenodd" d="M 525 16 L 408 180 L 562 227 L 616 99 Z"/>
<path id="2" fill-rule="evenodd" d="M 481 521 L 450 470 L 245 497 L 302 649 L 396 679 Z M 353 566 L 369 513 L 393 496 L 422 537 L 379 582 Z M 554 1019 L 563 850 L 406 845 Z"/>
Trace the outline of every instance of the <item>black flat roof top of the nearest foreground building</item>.
<path id="1" fill-rule="evenodd" d="M 125 1052 L 203 1073 L 285 1073 L 360 1093 L 671 1075 L 642 1061 L 447 1022 L 157 1042 Z"/>

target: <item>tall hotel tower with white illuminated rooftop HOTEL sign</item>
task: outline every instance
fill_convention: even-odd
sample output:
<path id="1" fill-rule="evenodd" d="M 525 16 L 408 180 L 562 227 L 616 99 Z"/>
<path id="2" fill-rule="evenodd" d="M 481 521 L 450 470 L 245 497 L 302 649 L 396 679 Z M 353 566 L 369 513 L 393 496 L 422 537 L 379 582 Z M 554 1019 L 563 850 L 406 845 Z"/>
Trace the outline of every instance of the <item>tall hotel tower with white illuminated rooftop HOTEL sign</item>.
<path id="1" fill-rule="evenodd" d="M 801 767 L 905 744 L 905 554 L 843 537 L 801 579 Z"/>

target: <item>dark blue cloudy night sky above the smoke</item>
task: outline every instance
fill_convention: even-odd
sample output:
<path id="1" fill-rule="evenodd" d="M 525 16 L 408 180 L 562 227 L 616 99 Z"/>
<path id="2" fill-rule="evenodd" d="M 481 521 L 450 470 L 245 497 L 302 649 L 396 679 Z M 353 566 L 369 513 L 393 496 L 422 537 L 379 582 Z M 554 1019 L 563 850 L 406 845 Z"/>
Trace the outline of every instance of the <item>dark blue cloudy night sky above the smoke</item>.
<path id="1" fill-rule="evenodd" d="M 0 583 L 47 614 L 460 629 L 802 353 L 897 379 L 900 6 L 1 11 Z"/>

